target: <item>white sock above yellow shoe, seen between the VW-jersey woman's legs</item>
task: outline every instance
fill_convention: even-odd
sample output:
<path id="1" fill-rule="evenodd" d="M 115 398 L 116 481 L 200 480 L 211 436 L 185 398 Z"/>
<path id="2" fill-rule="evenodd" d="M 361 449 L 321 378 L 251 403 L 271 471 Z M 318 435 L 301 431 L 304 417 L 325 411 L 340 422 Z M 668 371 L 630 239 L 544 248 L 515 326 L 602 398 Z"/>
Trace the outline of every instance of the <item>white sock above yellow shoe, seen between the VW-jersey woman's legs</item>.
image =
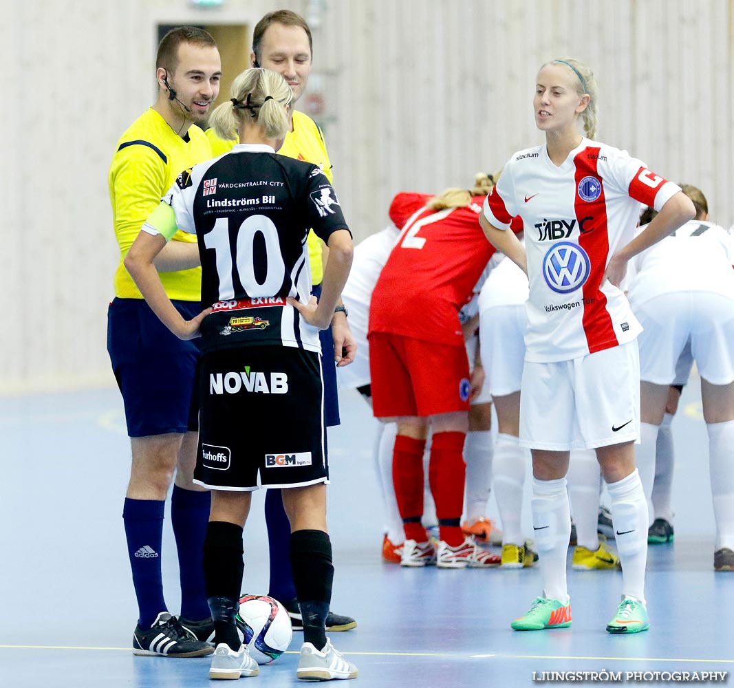
<path id="1" fill-rule="evenodd" d="M 571 500 L 576 540 L 581 547 L 594 552 L 599 548 L 599 477 L 601 469 L 593 449 L 571 452 L 566 480 Z"/>

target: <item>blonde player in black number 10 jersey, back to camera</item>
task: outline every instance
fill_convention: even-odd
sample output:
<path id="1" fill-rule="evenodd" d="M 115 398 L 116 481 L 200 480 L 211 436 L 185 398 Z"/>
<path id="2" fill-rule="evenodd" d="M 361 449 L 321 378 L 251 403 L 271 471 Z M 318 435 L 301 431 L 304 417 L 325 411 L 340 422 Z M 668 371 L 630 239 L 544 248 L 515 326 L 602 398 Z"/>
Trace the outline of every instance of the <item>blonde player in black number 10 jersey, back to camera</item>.
<path id="1" fill-rule="evenodd" d="M 291 565 L 304 625 L 298 678 L 355 678 L 331 645 L 333 565 L 326 526 L 329 472 L 318 330 L 329 327 L 352 261 L 352 236 L 316 165 L 278 156 L 291 89 L 249 69 L 211 115 L 230 153 L 183 172 L 126 258 L 150 307 L 180 338 L 201 334 L 200 450 L 195 481 L 212 490 L 204 545 L 215 626 L 210 678 L 254 676 L 235 626 L 242 529 L 252 490 L 283 489 Z M 178 226 L 196 233 L 206 308 L 186 322 L 161 287 L 153 258 Z M 308 228 L 330 248 L 321 299 L 311 297 Z"/>

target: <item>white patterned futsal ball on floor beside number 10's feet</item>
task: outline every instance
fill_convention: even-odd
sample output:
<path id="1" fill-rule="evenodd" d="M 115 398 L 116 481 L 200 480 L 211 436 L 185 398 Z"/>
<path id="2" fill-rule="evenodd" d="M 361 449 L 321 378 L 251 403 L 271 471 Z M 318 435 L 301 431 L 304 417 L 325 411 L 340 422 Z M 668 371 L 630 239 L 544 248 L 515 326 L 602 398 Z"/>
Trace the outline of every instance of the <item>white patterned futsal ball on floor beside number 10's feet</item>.
<path id="1" fill-rule="evenodd" d="M 293 628 L 286 608 L 267 595 L 244 595 L 239 598 L 237 620 L 244 629 L 250 656 L 258 664 L 277 659 L 291 644 Z"/>

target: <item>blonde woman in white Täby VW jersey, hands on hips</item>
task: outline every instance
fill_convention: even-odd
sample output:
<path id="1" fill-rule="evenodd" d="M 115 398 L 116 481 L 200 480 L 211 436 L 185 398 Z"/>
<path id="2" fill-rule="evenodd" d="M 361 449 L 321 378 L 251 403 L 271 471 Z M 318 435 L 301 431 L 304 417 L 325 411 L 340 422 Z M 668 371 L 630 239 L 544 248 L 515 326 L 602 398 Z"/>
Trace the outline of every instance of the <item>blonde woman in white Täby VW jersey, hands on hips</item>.
<path id="1" fill-rule="evenodd" d="M 535 122 L 545 145 L 515 153 L 480 222 L 498 250 L 528 274 L 528 327 L 520 394 L 520 443 L 532 450 L 533 528 L 542 595 L 517 630 L 570 626 L 566 551 L 570 449 L 595 449 L 611 496 L 622 562 L 622 602 L 611 633 L 650 625 L 644 601 L 647 503 L 634 463 L 639 436 L 639 358 L 633 316 L 619 283 L 627 261 L 694 216 L 680 188 L 639 160 L 589 138 L 597 84 L 585 65 L 554 60 L 537 75 Z M 583 121 L 586 135 L 578 124 Z M 658 216 L 639 236 L 640 203 Z M 526 247 L 509 228 L 520 216 Z"/>

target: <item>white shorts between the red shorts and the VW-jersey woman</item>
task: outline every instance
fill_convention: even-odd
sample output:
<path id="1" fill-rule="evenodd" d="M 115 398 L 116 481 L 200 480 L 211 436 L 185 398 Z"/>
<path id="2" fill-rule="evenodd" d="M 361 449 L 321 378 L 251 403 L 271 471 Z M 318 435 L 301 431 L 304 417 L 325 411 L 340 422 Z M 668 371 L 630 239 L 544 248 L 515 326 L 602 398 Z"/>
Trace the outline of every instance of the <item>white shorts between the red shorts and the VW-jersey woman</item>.
<path id="1" fill-rule="evenodd" d="M 527 322 L 525 304 L 493 306 L 479 315 L 482 365 L 492 396 L 520 391 Z"/>

